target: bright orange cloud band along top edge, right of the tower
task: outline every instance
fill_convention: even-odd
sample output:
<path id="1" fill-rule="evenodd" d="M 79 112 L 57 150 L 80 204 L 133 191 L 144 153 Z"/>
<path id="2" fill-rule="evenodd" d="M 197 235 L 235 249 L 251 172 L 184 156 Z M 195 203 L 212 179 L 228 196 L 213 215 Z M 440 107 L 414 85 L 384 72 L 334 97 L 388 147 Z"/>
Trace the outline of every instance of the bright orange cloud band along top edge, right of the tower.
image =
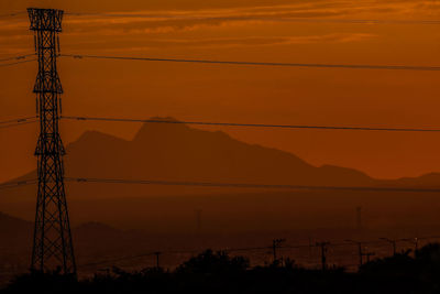
<path id="1" fill-rule="evenodd" d="M 127 35 L 286 22 L 440 24 L 436 17 L 440 17 L 440 4 L 431 1 L 311 1 L 234 9 L 72 14 L 65 24 L 72 34 Z"/>

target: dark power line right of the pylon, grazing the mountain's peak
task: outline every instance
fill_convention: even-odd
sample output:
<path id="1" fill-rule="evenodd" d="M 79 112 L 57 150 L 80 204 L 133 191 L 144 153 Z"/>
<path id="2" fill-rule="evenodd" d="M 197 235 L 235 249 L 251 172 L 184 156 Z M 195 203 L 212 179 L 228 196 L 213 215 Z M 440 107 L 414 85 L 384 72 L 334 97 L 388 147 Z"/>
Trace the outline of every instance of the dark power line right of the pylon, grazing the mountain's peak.
<path id="1" fill-rule="evenodd" d="M 219 126 L 219 127 L 244 127 L 244 128 L 388 131 L 388 132 L 440 132 L 440 129 L 418 129 L 418 128 L 375 128 L 375 127 L 351 127 L 351 126 L 338 127 L 338 126 L 307 126 L 307 124 L 235 123 L 235 122 L 176 121 L 176 120 L 156 120 L 156 119 L 124 119 L 124 118 L 75 117 L 75 116 L 63 116 L 62 119 L 79 120 L 79 121 L 142 122 L 142 123 L 195 124 L 195 126 Z"/>

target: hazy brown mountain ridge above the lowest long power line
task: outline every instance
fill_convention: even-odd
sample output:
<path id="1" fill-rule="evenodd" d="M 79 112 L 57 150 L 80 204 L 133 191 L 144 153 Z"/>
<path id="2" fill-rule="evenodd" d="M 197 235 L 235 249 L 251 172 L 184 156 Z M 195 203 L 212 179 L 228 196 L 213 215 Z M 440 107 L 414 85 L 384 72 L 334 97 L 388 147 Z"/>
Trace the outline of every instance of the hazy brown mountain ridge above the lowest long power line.
<path id="1" fill-rule="evenodd" d="M 440 183 L 439 173 L 380 179 L 352 167 L 315 166 L 279 149 L 183 123 L 144 123 L 132 140 L 89 130 L 67 144 L 66 150 L 69 177 L 344 186 L 432 187 Z M 15 181 L 35 177 L 33 171 Z"/>

